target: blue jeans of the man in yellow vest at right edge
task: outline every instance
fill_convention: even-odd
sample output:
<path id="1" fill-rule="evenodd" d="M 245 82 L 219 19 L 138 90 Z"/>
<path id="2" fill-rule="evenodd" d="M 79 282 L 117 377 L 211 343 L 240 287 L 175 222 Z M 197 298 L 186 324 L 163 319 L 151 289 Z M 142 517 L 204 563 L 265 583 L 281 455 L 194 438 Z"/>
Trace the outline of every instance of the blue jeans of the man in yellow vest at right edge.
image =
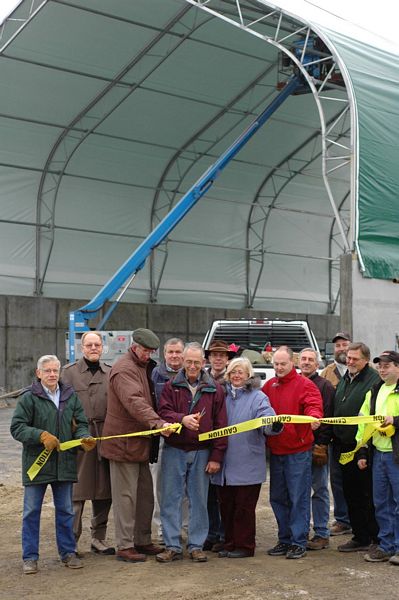
<path id="1" fill-rule="evenodd" d="M 393 452 L 374 450 L 373 500 L 381 550 L 399 552 L 399 465 Z"/>

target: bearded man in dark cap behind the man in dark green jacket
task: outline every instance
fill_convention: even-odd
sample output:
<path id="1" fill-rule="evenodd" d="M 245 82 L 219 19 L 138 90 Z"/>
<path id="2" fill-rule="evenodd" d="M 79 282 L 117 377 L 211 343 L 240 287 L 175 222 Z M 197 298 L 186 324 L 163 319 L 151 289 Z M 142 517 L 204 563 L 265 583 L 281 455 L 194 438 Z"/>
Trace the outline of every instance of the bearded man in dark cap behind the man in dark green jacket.
<path id="1" fill-rule="evenodd" d="M 347 371 L 346 352 L 352 341 L 351 335 L 347 331 L 339 331 L 332 339 L 334 344 L 334 362 L 327 365 L 320 373 L 321 377 L 328 379 L 336 388 L 341 378 Z M 330 527 L 330 535 L 343 535 L 351 532 L 351 526 L 348 515 L 344 492 L 342 490 L 342 473 L 338 459 L 329 448 L 329 466 L 330 466 L 330 484 L 334 500 L 334 522 Z"/>

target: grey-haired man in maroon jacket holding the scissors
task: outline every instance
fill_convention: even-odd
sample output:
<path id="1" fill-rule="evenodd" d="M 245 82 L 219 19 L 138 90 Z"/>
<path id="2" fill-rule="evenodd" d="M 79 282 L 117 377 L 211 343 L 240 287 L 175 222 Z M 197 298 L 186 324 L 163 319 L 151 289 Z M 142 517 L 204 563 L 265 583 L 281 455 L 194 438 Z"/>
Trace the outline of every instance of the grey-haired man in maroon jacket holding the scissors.
<path id="1" fill-rule="evenodd" d="M 194 562 L 206 562 L 202 551 L 208 533 L 207 498 L 209 475 L 220 469 L 226 438 L 200 442 L 198 434 L 227 424 L 223 388 L 205 372 L 204 350 L 197 342 L 186 345 L 183 368 L 162 392 L 159 414 L 181 423 L 179 435 L 166 440 L 162 455 L 161 522 L 166 550 L 157 555 L 161 563 L 183 557 L 180 531 L 181 505 L 189 499 L 187 549 Z"/>

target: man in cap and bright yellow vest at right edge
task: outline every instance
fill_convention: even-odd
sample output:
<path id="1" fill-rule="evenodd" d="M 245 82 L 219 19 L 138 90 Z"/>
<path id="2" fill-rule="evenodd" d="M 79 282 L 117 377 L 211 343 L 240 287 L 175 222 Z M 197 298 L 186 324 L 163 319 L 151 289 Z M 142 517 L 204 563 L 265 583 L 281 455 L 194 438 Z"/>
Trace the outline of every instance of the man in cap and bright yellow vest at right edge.
<path id="1" fill-rule="evenodd" d="M 370 548 L 364 558 L 399 565 L 399 352 L 385 350 L 373 363 L 381 381 L 366 394 L 360 414 L 385 415 L 382 426 L 390 426 L 391 431 L 385 435 L 376 432 L 368 449 L 363 447 L 356 454 L 359 469 L 372 463 L 373 500 L 379 526 L 379 544 Z M 357 441 L 362 439 L 364 427 L 358 426 Z"/>

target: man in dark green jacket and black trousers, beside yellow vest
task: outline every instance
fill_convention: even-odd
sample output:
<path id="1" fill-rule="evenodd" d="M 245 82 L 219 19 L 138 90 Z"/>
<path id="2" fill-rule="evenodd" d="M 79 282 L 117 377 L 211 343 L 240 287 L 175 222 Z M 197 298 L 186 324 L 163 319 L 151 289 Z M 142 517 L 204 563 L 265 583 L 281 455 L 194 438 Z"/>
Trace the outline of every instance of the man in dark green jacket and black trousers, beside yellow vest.
<path id="1" fill-rule="evenodd" d="M 370 367 L 370 349 L 362 342 L 351 343 L 347 350 L 348 370 L 340 380 L 334 399 L 334 417 L 359 414 L 364 397 L 380 381 L 377 371 Z M 334 425 L 333 453 L 336 459 L 342 452 L 356 447 L 357 425 Z M 361 470 L 356 461 L 340 465 L 342 484 L 353 537 L 338 546 L 340 552 L 367 551 L 378 543 L 378 525 L 374 516 L 370 468 Z"/>

